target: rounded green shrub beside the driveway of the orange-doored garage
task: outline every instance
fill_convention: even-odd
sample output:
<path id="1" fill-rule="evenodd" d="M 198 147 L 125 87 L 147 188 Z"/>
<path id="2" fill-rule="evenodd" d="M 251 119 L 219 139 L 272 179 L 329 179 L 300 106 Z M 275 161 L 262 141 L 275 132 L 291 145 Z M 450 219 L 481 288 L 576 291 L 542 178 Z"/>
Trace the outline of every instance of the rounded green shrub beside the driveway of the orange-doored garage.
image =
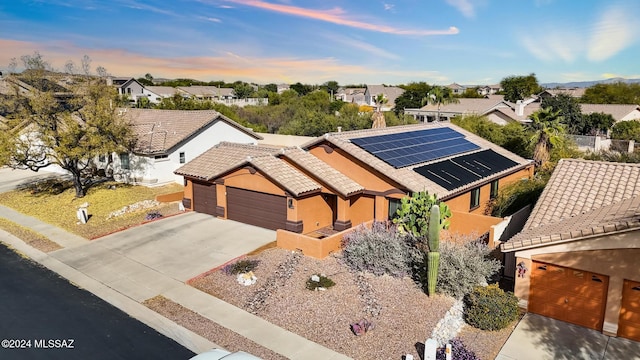
<path id="1" fill-rule="evenodd" d="M 518 299 L 498 284 L 478 286 L 465 297 L 465 321 L 478 329 L 500 330 L 518 318 Z"/>

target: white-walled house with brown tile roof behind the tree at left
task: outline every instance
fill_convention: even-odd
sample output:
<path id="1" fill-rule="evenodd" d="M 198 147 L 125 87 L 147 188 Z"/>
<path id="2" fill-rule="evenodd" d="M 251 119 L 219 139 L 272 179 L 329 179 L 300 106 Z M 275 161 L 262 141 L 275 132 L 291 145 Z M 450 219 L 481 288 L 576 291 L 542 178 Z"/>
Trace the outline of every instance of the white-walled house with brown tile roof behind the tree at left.
<path id="1" fill-rule="evenodd" d="M 174 175 L 182 164 L 221 141 L 255 144 L 261 137 L 214 110 L 122 109 L 138 141 L 133 154 L 113 158 L 114 178 L 140 184 L 183 179 Z M 107 159 L 99 159 L 98 168 Z"/>

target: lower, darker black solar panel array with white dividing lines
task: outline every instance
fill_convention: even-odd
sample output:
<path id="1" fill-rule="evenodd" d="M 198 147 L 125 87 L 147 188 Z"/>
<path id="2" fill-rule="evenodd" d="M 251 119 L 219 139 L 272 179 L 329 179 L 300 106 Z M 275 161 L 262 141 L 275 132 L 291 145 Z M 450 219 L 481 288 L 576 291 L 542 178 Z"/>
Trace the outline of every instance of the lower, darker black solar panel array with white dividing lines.
<path id="1" fill-rule="evenodd" d="M 453 190 L 516 165 L 518 165 L 517 162 L 493 150 L 484 150 L 420 166 L 413 170 L 443 188 Z"/>

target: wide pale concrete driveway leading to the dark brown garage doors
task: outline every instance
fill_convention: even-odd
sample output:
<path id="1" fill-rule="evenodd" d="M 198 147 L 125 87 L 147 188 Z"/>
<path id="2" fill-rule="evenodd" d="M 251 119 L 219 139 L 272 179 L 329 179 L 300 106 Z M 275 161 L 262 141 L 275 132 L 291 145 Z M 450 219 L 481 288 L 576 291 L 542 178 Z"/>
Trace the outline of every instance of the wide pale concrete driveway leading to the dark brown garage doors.
<path id="1" fill-rule="evenodd" d="M 49 255 L 142 301 L 275 239 L 272 230 L 188 212 Z"/>

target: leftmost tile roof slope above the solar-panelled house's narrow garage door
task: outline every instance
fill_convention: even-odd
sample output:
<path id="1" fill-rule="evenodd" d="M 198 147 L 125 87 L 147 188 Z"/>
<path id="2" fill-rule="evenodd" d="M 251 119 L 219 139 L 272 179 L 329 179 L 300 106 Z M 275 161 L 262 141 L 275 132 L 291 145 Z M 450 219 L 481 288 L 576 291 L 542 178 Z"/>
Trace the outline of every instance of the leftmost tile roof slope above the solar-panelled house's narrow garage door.
<path id="1" fill-rule="evenodd" d="M 184 164 L 177 175 L 212 180 L 247 161 L 247 157 L 275 154 L 279 149 L 257 145 L 221 142 Z"/>

